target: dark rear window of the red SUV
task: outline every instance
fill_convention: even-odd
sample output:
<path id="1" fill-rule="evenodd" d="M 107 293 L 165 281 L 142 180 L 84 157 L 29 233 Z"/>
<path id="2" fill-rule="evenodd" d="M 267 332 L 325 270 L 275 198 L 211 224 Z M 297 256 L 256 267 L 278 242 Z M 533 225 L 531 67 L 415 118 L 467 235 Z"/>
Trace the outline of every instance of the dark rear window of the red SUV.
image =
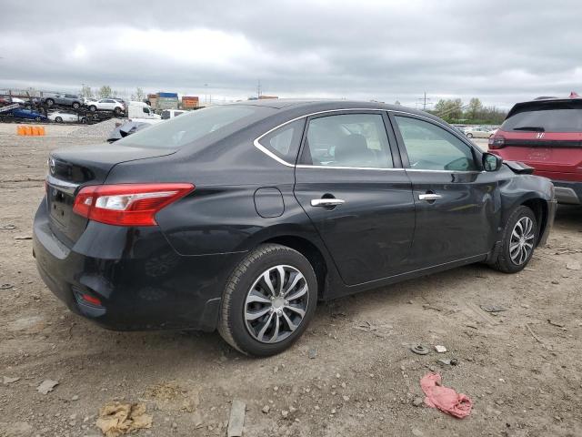
<path id="1" fill-rule="evenodd" d="M 582 132 L 582 101 L 534 103 L 512 110 L 501 130 Z"/>

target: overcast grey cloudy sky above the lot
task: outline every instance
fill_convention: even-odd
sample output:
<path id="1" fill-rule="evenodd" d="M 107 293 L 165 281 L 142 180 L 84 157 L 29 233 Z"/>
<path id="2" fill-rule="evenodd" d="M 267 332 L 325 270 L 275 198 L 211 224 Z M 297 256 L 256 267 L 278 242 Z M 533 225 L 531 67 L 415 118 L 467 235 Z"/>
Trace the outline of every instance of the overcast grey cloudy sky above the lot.
<path id="1" fill-rule="evenodd" d="M 510 107 L 582 94 L 582 0 L 3 0 L 0 88 Z M 205 86 L 207 84 L 207 87 Z"/>

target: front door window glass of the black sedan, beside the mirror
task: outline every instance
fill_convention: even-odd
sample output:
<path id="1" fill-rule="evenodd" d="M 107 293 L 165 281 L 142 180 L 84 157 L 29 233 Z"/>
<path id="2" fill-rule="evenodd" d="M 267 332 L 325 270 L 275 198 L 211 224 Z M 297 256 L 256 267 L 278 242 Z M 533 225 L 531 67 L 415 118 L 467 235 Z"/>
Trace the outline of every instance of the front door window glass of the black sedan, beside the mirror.
<path id="1" fill-rule="evenodd" d="M 417 118 L 395 118 L 410 168 L 447 171 L 479 169 L 471 147 L 447 130 Z"/>

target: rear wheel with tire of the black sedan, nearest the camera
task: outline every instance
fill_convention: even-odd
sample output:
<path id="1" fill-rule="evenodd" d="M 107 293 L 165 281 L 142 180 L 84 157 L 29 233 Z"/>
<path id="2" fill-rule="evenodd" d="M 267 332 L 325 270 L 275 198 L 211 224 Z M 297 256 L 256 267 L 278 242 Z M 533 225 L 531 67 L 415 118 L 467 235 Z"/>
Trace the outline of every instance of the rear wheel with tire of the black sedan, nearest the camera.
<path id="1" fill-rule="evenodd" d="M 316 304 L 317 279 L 309 261 L 286 246 L 261 245 L 227 280 L 218 331 L 237 351 L 275 355 L 303 334 Z"/>

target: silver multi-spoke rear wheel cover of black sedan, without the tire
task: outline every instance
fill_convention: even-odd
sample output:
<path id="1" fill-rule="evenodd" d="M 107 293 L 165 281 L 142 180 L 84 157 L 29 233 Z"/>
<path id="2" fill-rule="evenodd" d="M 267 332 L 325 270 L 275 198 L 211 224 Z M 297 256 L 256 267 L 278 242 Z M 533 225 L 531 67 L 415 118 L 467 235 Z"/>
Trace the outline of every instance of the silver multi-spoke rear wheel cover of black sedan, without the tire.
<path id="1" fill-rule="evenodd" d="M 309 287 L 298 269 L 266 269 L 246 294 L 246 329 L 262 343 L 285 340 L 303 321 L 308 301 Z"/>

